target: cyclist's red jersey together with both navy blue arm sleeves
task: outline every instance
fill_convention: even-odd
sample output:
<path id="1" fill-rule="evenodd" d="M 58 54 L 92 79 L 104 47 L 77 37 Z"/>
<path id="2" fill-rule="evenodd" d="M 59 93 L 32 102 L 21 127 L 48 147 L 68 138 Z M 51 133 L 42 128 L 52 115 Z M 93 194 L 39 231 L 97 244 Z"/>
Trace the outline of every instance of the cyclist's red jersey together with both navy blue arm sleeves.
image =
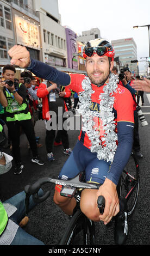
<path id="1" fill-rule="evenodd" d="M 74 92 L 82 92 L 82 81 L 85 75 L 71 74 L 68 75 L 65 72 L 58 71 L 52 66 L 48 66 L 45 63 L 32 59 L 31 64 L 28 67 L 37 77 L 44 78 L 48 81 L 61 84 L 62 86 L 68 86 Z M 91 84 L 95 93 L 91 96 L 91 111 L 99 112 L 99 94 L 103 93 L 103 87 L 97 87 L 95 84 Z M 134 113 L 133 113 L 133 97 L 128 89 L 120 86 L 114 95 L 113 112 L 116 121 L 117 132 L 117 149 L 114 156 L 114 160 L 111 163 L 106 178 L 110 179 L 116 185 L 120 178 L 123 168 L 126 166 L 130 154 L 132 152 L 133 145 L 133 130 L 134 130 Z M 100 125 L 101 123 L 101 125 Z M 103 136 L 104 127 L 98 117 L 95 119 L 95 125 L 99 129 L 99 136 Z M 91 142 L 86 132 L 80 131 L 79 141 L 83 143 L 84 147 L 90 148 Z M 94 154 L 94 153 L 91 153 Z M 99 160 L 100 161 L 100 160 Z"/>

